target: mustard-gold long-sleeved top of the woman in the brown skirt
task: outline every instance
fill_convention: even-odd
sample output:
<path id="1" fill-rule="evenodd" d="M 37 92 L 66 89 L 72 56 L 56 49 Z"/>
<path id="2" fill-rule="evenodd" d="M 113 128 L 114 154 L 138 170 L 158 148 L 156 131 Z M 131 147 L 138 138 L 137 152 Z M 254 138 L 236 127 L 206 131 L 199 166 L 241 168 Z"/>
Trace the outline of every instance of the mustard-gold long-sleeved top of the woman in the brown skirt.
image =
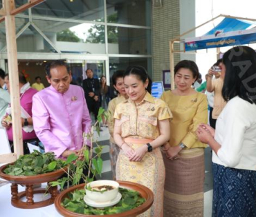
<path id="1" fill-rule="evenodd" d="M 196 92 L 190 96 L 177 96 L 167 91 L 161 99 L 167 103 L 173 115 L 170 123 L 170 145 L 176 146 L 182 142 L 188 148 L 206 147 L 196 136 L 198 125 L 208 121 L 206 95 Z"/>

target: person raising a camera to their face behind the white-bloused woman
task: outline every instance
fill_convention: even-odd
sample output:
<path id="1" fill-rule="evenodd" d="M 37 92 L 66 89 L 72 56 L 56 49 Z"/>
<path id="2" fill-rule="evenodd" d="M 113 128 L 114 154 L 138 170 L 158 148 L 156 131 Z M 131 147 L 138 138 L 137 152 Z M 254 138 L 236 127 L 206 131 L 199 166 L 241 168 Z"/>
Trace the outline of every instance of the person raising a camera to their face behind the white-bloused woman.
<path id="1" fill-rule="evenodd" d="M 213 76 L 215 76 L 216 79 L 213 79 Z M 216 121 L 221 114 L 221 111 L 223 110 L 223 107 L 225 107 L 226 102 L 224 101 L 221 90 L 223 87 L 223 80 L 224 80 L 225 72 L 222 70 L 222 59 L 219 59 L 217 63 L 213 65 L 212 68 L 208 71 L 208 74 L 206 74 L 206 90 L 208 92 L 214 92 L 214 105 L 213 109 L 210 110 L 210 125 L 215 129 Z"/>

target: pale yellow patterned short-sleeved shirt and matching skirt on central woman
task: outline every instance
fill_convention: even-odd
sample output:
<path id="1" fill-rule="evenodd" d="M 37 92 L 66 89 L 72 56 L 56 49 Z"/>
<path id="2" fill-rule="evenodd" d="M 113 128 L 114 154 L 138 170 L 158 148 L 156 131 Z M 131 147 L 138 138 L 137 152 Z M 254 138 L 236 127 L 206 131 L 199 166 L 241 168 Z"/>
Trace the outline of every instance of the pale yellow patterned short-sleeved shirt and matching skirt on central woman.
<path id="1" fill-rule="evenodd" d="M 143 101 L 136 105 L 130 99 L 116 107 L 114 118 L 120 120 L 122 138 L 133 149 L 154 141 L 159 135 L 158 121 L 172 118 L 166 103 L 148 92 Z M 161 144 L 162 145 L 162 144 Z M 159 147 L 147 152 L 140 162 L 131 162 L 120 150 L 116 164 L 117 180 L 127 180 L 149 187 L 154 192 L 151 209 L 140 216 L 163 216 L 163 189 L 165 166 Z"/>

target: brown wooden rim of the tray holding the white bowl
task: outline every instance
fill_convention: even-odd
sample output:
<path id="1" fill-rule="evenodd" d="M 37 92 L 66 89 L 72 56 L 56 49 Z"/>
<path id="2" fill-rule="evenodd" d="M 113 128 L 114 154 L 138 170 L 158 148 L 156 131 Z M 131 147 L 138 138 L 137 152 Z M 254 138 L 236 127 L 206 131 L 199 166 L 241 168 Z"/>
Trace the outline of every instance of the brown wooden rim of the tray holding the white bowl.
<path id="1" fill-rule="evenodd" d="M 120 185 L 120 187 L 122 188 L 126 188 L 126 189 L 132 189 L 134 191 L 137 191 L 140 193 L 140 196 L 142 196 L 143 198 L 145 198 L 145 203 L 143 203 L 142 205 L 140 205 L 139 207 L 136 207 L 135 209 L 131 209 L 129 211 L 124 211 L 120 214 L 111 214 L 111 215 L 106 215 L 107 217 L 135 217 L 138 216 L 139 214 L 142 214 L 144 211 L 147 211 L 147 209 L 149 209 L 153 202 L 154 202 L 154 194 L 153 192 L 148 188 L 145 187 L 144 185 L 140 185 L 138 183 L 131 183 L 131 182 L 127 182 L 127 181 L 117 181 Z M 73 211 L 69 211 L 68 209 L 65 209 L 64 207 L 62 207 L 62 201 L 64 200 L 64 198 L 66 198 L 68 196 L 68 193 L 74 192 L 75 189 L 84 189 L 84 185 L 85 184 L 81 184 L 81 185 L 75 185 L 71 188 L 68 188 L 66 190 L 64 190 L 64 192 L 61 192 L 57 198 L 55 199 L 55 207 L 57 209 L 57 211 L 65 217 L 101 217 L 98 215 L 84 215 L 84 214 L 77 214 L 74 213 Z"/>

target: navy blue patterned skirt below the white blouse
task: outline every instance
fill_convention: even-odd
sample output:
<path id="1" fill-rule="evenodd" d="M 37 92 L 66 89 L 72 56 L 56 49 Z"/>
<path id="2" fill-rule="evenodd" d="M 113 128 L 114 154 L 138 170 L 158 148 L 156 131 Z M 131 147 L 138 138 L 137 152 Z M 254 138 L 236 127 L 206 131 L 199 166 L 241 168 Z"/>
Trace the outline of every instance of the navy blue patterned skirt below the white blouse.
<path id="1" fill-rule="evenodd" d="M 256 171 L 212 163 L 212 216 L 256 216 Z"/>

